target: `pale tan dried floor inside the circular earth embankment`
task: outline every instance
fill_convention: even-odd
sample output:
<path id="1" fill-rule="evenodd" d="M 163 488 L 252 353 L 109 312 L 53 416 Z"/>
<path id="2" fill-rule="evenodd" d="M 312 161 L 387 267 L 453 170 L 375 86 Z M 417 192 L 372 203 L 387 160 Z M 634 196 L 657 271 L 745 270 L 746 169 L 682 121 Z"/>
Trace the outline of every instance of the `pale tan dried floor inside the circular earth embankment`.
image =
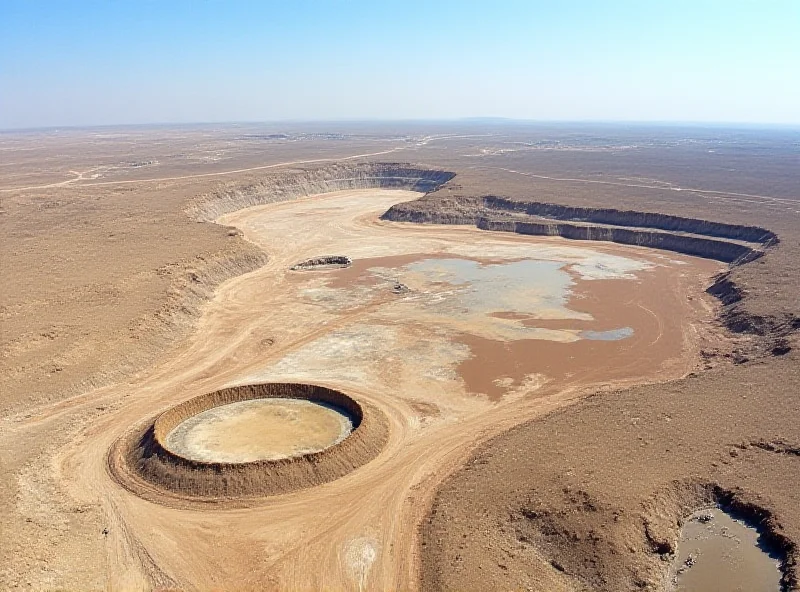
<path id="1" fill-rule="evenodd" d="M 254 399 L 190 417 L 167 436 L 170 450 L 192 460 L 243 463 L 316 452 L 352 431 L 341 410 L 304 399 Z"/>

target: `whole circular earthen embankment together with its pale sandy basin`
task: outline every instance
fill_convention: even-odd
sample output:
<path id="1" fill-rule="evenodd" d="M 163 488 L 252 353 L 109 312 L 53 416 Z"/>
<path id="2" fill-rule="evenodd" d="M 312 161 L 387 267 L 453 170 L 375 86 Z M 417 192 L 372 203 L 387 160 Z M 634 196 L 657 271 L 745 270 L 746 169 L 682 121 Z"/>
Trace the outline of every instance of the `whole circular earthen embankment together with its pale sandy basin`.
<path id="1" fill-rule="evenodd" d="M 254 404 L 267 400 L 277 405 L 276 409 L 283 409 L 278 415 L 287 409 L 290 415 L 301 410 L 301 415 L 305 416 L 301 419 L 306 420 L 306 425 L 299 430 L 300 440 L 290 445 L 279 442 L 282 447 L 276 450 L 273 439 L 266 446 L 256 444 L 254 450 L 252 442 L 242 448 L 245 443 L 240 435 L 226 439 L 216 433 L 202 439 L 206 444 L 209 440 L 213 444 L 201 446 L 203 450 L 187 445 L 187 433 L 191 435 L 198 426 L 218 430 L 225 421 L 241 418 L 230 410 L 245 404 L 243 408 L 249 408 L 248 412 L 252 413 Z M 312 405 L 303 405 L 304 402 Z M 267 422 L 273 427 L 276 409 L 270 411 Z M 263 409 L 257 412 L 263 413 Z M 203 414 L 206 414 L 205 419 Z M 346 421 L 342 421 L 344 418 Z M 342 430 L 338 434 L 332 435 L 331 420 L 340 422 Z M 308 433 L 314 424 L 326 422 L 329 425 L 321 437 Z M 262 427 L 265 427 L 263 423 Z M 290 431 L 284 430 L 284 435 Z M 151 499 L 224 500 L 269 496 L 320 485 L 346 475 L 378 455 L 386 444 L 388 432 L 388 421 L 379 409 L 340 391 L 313 384 L 250 384 L 189 399 L 131 430 L 113 446 L 108 466 L 122 485 Z M 309 442 L 312 442 L 310 446 Z M 259 458 L 250 460 L 254 454 Z"/>

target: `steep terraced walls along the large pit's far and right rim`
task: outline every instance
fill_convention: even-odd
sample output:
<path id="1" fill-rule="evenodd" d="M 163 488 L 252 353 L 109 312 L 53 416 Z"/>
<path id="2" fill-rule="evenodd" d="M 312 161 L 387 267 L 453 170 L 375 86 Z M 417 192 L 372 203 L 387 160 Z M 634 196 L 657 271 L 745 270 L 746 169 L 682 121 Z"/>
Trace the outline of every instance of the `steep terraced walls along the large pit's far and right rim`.
<path id="1" fill-rule="evenodd" d="M 230 184 L 196 199 L 189 205 L 187 212 L 197 220 L 213 221 L 223 214 L 250 206 L 338 190 L 389 188 L 431 193 L 455 176 L 453 172 L 408 163 L 337 163 L 276 173 L 248 185 Z M 515 225 L 508 225 L 510 216 L 521 214 L 550 220 L 513 220 Z M 453 199 L 442 195 L 435 203 L 433 200 L 423 199 L 397 204 L 382 218 L 429 224 L 474 224 L 483 228 L 493 227 L 496 230 L 530 235 L 605 240 L 707 257 L 731 265 L 757 259 L 763 255 L 765 249 L 778 243 L 774 232 L 758 226 L 725 224 L 652 212 L 516 201 L 497 196 Z M 751 244 L 732 241 L 748 241 Z M 738 287 L 734 286 L 735 294 L 727 289 L 727 277 L 720 276 L 709 291 L 715 295 L 724 292 L 723 300 L 730 297 L 740 300 Z M 766 321 L 760 322 L 759 319 L 734 313 L 735 311 L 725 313 L 726 325 L 734 331 L 757 334 L 774 332 Z M 791 325 L 791 322 L 795 322 L 795 325 Z M 788 329 L 779 327 L 778 332 L 783 334 L 798 328 L 796 321 L 790 320 L 788 324 L 791 325 Z"/>

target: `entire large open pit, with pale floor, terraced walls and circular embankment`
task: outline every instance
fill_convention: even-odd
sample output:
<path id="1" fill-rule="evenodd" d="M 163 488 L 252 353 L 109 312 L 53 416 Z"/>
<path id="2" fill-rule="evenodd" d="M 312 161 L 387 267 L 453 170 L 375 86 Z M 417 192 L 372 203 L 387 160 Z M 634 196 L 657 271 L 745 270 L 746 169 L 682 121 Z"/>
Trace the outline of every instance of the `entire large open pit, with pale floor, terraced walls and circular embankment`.
<path id="1" fill-rule="evenodd" d="M 158 516 L 164 531 L 132 528 L 172 584 L 199 586 L 180 566 L 202 556 L 233 587 L 406 586 L 442 475 L 588 389 L 692 371 L 715 339 L 712 278 L 776 241 L 496 198 L 454 211 L 432 200 L 453 178 L 328 167 L 191 204 L 268 260 L 220 286 L 188 348 L 121 412 L 129 429 L 115 418 L 68 453 L 76 486 L 102 483 L 126 524 Z"/>

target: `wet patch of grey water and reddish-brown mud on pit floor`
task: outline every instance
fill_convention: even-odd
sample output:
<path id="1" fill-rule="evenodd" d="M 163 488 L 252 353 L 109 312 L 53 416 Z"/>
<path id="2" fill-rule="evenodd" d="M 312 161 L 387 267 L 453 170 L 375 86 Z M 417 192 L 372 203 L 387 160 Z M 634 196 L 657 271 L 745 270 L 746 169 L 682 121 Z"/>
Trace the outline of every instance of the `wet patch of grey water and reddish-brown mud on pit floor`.
<path id="1" fill-rule="evenodd" d="M 438 292 L 427 310 L 463 320 L 453 340 L 470 350 L 457 369 L 466 390 L 498 400 L 516 388 L 573 376 L 623 379 L 680 357 L 680 319 L 652 312 L 672 303 L 675 315 L 683 314 L 681 288 L 662 270 L 589 280 L 564 261 L 418 253 L 356 260 L 330 272 L 327 285 Z M 636 355 L 645 348 L 647 356 Z"/>

